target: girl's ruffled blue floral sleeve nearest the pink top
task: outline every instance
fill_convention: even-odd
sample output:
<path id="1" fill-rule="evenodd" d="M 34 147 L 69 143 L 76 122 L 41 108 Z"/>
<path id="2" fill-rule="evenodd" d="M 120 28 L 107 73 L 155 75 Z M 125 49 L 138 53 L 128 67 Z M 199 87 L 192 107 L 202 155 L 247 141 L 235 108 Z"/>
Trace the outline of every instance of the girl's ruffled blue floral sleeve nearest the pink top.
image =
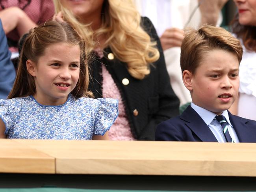
<path id="1" fill-rule="evenodd" d="M 95 102 L 97 109 L 93 134 L 104 135 L 118 116 L 118 100 L 100 98 Z"/>

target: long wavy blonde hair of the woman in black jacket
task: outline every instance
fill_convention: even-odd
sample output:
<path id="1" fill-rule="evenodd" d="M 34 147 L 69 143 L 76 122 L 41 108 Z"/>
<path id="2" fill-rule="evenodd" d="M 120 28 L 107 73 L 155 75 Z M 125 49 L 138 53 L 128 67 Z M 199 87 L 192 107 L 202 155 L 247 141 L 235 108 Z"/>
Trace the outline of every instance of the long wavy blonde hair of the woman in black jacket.
<path id="1" fill-rule="evenodd" d="M 136 79 L 150 74 L 150 63 L 159 59 L 156 42 L 140 26 L 141 16 L 132 0 L 104 0 L 101 27 L 92 31 L 90 23 L 79 22 L 71 11 L 63 7 L 60 0 L 54 0 L 55 11 L 63 14 L 63 19 L 73 25 L 86 42 L 87 54 L 97 45 L 94 39 L 106 36 L 105 46 L 109 46 L 117 59 L 126 63 L 128 72 Z M 96 37 L 96 38 L 95 38 Z"/>

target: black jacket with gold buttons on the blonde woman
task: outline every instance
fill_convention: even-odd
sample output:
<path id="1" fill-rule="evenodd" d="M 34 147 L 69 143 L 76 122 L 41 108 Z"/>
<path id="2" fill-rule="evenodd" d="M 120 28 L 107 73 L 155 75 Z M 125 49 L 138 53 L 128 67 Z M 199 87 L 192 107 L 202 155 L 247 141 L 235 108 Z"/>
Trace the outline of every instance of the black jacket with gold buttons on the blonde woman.
<path id="1" fill-rule="evenodd" d="M 102 59 L 96 57 L 91 61 L 91 76 L 89 89 L 95 98 L 102 97 L 102 63 L 106 65 L 115 84 L 119 88 L 122 101 L 128 116 L 131 131 L 137 140 L 154 140 L 156 126 L 169 118 L 179 114 L 179 100 L 170 85 L 170 79 L 166 70 L 163 50 L 160 40 L 152 22 L 143 17 L 141 25 L 157 41 L 160 58 L 150 66 L 150 74 L 138 80 L 133 78 L 126 69 L 126 64 L 118 59 L 108 59 L 110 48 L 104 50 Z M 128 85 L 122 83 L 126 78 Z"/>

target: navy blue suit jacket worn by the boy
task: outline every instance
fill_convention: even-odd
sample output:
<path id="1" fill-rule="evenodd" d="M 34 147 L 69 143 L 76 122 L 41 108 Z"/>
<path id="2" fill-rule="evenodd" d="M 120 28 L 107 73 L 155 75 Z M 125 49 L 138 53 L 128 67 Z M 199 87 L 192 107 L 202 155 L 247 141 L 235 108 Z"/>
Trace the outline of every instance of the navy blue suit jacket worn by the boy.
<path id="1" fill-rule="evenodd" d="M 229 120 L 240 142 L 256 142 L 256 121 L 228 112 Z M 156 129 L 156 140 L 218 142 L 210 128 L 189 105 L 175 118 L 161 122 Z"/>

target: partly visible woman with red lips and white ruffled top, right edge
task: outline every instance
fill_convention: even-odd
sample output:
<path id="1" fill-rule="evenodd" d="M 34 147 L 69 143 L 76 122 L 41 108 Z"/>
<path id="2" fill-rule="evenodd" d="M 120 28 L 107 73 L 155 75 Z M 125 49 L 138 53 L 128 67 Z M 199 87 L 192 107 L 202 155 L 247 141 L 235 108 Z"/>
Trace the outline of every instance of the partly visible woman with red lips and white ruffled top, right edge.
<path id="1" fill-rule="evenodd" d="M 234 0 L 238 13 L 232 21 L 232 32 L 241 41 L 239 98 L 230 109 L 232 114 L 256 120 L 256 1 Z"/>

